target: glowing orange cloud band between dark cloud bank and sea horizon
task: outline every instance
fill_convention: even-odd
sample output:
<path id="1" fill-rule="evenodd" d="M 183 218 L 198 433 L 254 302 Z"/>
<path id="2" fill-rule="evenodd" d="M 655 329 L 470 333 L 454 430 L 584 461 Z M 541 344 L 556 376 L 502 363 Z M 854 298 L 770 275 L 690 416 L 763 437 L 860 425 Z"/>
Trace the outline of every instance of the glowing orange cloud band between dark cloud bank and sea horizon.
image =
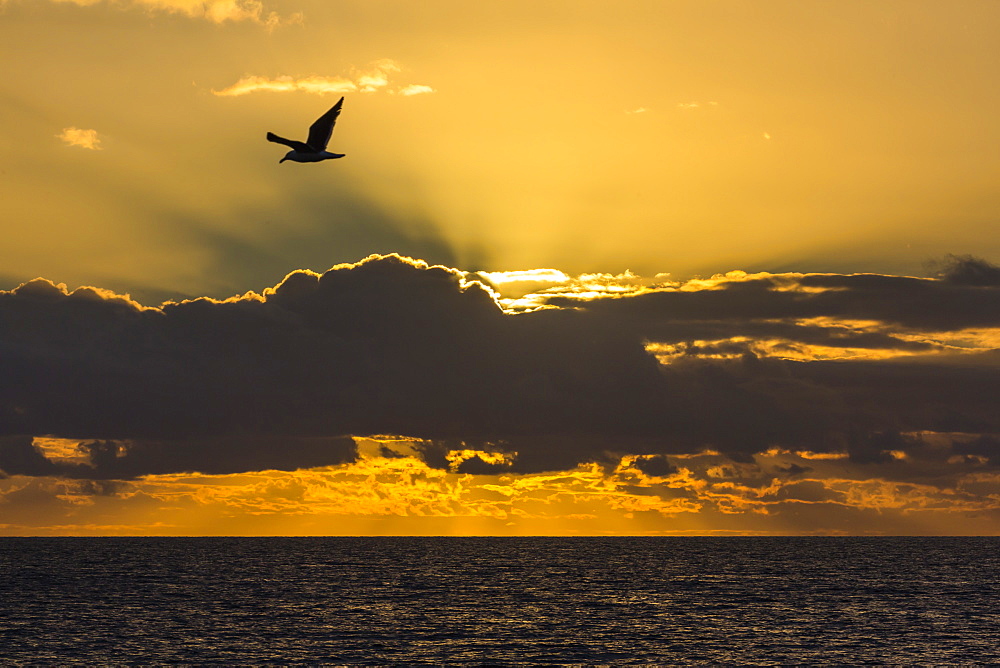
<path id="1" fill-rule="evenodd" d="M 0 480 L 0 504 L 9 511 L 0 533 L 190 535 L 222 523 L 235 534 L 351 534 L 359 526 L 406 534 L 440 533 L 456 521 L 466 531 L 478 526 L 474 533 L 515 535 L 838 533 L 845 521 L 860 533 L 996 533 L 1000 517 L 1000 473 L 982 461 L 938 467 L 920 482 L 893 480 L 871 464 L 778 450 L 745 462 L 719 454 L 667 458 L 673 463 L 626 456 L 554 473 L 469 474 L 399 452 L 414 449 L 419 443 L 379 437 L 359 442 L 356 462 L 295 471 L 129 482 L 13 476 Z M 920 459 L 889 466 L 920 466 Z M 135 523 L 137 516 L 146 522 Z"/>

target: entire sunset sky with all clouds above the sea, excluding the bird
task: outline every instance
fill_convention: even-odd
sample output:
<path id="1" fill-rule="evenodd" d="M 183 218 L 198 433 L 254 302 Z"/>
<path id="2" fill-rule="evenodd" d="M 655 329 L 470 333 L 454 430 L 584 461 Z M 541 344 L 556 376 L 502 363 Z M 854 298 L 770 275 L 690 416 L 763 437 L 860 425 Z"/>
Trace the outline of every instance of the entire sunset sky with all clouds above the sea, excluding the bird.
<path id="1" fill-rule="evenodd" d="M 0 0 L 0 534 L 1000 534 L 998 32 Z"/>

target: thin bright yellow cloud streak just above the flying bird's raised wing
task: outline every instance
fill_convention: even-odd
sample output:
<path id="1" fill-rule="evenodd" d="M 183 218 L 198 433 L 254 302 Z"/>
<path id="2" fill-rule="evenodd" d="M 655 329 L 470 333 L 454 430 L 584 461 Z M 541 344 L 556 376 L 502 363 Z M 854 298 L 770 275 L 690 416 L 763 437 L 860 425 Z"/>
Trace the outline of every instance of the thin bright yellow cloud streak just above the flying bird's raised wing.
<path id="1" fill-rule="evenodd" d="M 404 96 L 421 95 L 433 93 L 430 86 L 410 84 L 402 88 L 390 89 L 389 79 L 401 71 L 400 66 L 388 58 L 375 61 L 368 70 L 354 72 L 351 76 L 307 76 L 291 77 L 279 76 L 276 78 L 247 75 L 222 90 L 213 90 L 215 95 L 224 97 L 237 97 L 250 93 L 272 92 L 304 92 L 323 95 L 326 93 L 342 95 L 345 93 L 375 93 L 380 90 L 389 90 Z"/>

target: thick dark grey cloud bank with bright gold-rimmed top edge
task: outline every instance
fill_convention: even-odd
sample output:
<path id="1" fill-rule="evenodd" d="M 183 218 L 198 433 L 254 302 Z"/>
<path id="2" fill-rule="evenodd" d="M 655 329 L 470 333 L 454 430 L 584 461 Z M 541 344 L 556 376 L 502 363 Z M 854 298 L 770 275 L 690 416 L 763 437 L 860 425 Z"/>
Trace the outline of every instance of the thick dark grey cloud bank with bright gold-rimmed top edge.
<path id="1" fill-rule="evenodd" d="M 0 470 L 294 469 L 349 461 L 349 436 L 377 434 L 424 439 L 438 466 L 461 443 L 516 451 L 516 471 L 709 448 L 878 464 L 929 453 L 920 431 L 976 435 L 950 454 L 1000 462 L 996 351 L 907 336 L 1000 327 L 1000 269 L 985 262 L 952 258 L 937 279 L 774 275 L 551 305 L 505 314 L 460 272 L 397 256 L 295 272 L 263 298 L 158 309 L 35 280 L 0 293 Z M 915 354 L 793 362 L 755 354 L 761 339 Z M 681 354 L 660 364 L 649 342 Z M 83 440 L 91 464 L 46 459 L 41 435 Z"/>

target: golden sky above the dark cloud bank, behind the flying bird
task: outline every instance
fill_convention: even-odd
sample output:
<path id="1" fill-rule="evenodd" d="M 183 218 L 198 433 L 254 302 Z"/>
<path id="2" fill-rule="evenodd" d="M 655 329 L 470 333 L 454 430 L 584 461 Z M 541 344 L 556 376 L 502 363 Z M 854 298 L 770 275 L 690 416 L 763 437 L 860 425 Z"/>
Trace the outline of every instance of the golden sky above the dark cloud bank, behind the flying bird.
<path id="1" fill-rule="evenodd" d="M 2 7 L 8 284 L 227 296 L 391 251 L 678 277 L 1000 257 L 994 2 Z M 340 94 L 350 159 L 278 166 L 263 134 Z"/>

